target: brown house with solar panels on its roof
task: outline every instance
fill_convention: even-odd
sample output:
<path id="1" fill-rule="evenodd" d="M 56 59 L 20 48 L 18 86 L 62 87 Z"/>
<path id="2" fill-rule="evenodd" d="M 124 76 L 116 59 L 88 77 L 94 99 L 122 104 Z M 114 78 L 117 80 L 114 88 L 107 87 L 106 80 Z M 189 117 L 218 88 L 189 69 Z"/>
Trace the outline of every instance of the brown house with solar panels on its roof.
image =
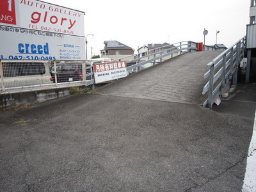
<path id="1" fill-rule="evenodd" d="M 105 45 L 104 49 L 100 50 L 102 58 L 110 58 L 111 60 L 115 60 L 118 58 L 123 58 L 125 56 L 134 54 L 134 49 L 115 40 L 104 41 L 104 45 Z M 125 60 L 132 60 L 132 59 L 133 59 L 133 56 Z"/>

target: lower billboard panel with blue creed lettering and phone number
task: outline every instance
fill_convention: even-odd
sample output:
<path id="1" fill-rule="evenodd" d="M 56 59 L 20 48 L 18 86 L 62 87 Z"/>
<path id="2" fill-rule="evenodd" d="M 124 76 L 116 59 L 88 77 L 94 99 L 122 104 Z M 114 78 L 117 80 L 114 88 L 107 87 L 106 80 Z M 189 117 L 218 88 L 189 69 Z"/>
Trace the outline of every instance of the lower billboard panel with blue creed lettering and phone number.
<path id="1" fill-rule="evenodd" d="M 84 37 L 0 26 L 3 60 L 85 60 Z"/>

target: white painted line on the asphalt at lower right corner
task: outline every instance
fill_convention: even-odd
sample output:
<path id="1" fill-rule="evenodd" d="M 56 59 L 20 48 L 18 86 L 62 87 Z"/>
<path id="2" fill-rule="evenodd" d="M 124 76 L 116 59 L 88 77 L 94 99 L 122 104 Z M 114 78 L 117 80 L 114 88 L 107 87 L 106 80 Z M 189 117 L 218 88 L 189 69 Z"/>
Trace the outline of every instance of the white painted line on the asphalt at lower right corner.
<path id="1" fill-rule="evenodd" d="M 256 111 L 253 125 L 253 134 L 248 150 L 246 172 L 244 175 L 243 192 L 256 191 Z"/>

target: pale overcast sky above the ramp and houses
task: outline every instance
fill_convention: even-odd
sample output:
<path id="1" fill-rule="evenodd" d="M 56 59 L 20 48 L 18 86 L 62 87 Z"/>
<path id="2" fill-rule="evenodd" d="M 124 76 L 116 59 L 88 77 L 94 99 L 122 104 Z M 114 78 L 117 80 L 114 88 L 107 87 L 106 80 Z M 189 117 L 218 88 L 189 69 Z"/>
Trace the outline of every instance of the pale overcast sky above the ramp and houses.
<path id="1" fill-rule="evenodd" d="M 84 35 L 88 36 L 88 58 L 100 54 L 105 40 L 117 40 L 132 47 L 174 44 L 191 40 L 206 45 L 230 47 L 246 35 L 250 0 L 42 0 L 85 12 Z"/>

